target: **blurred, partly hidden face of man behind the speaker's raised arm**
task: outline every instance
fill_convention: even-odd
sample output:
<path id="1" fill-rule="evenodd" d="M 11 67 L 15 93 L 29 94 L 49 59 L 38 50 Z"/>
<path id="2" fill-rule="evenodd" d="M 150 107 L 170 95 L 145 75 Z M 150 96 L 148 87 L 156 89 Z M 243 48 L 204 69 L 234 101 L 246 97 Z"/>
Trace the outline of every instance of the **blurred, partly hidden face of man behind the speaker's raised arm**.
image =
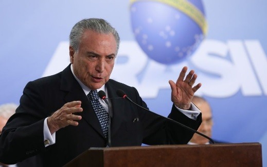
<path id="1" fill-rule="evenodd" d="M 211 137 L 213 122 L 210 106 L 207 102 L 194 102 L 194 104 L 200 109 L 202 113 L 202 123 L 198 129 L 198 132 Z M 209 140 L 195 133 L 190 141 L 197 144 L 205 144 Z"/>

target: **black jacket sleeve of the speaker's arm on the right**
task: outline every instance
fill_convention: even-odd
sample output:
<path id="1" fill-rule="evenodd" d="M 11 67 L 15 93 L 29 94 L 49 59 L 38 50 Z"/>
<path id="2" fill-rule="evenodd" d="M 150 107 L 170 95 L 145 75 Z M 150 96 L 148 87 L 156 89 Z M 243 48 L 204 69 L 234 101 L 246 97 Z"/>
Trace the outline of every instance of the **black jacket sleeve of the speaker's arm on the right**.
<path id="1" fill-rule="evenodd" d="M 141 99 L 136 89 L 135 93 L 135 102 L 148 109 L 146 103 Z M 168 116 L 168 118 L 173 121 L 143 109 L 139 110 L 139 115 L 143 124 L 143 143 L 148 145 L 186 144 L 192 138 L 194 133 L 180 126 L 179 123 L 182 123 L 191 129 L 197 130 L 202 121 L 201 113 L 197 117 L 197 120 L 193 120 L 177 110 L 174 105 L 172 106 L 171 112 Z"/>

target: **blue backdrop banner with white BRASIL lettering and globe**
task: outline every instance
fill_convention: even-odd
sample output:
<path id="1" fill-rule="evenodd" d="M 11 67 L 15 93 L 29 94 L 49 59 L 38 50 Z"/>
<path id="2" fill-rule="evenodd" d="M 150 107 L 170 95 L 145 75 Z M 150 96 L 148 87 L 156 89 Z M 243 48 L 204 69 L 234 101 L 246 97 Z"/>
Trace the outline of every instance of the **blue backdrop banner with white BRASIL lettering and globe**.
<path id="1" fill-rule="evenodd" d="M 213 112 L 212 138 L 260 142 L 267 155 L 267 2 L 1 1 L 0 104 L 19 104 L 28 81 L 69 64 L 68 35 L 83 18 L 108 20 L 121 38 L 111 78 L 136 87 L 167 116 L 168 80 L 198 74 Z M 267 159 L 263 158 L 267 165 Z"/>

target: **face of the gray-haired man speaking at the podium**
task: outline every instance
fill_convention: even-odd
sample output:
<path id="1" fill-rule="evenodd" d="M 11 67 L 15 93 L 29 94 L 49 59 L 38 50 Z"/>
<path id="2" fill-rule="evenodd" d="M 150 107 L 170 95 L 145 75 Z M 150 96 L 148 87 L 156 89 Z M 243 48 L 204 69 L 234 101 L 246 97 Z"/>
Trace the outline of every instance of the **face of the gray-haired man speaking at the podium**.
<path id="1" fill-rule="evenodd" d="M 74 74 L 92 90 L 101 88 L 109 79 L 114 67 L 117 43 L 110 34 L 87 30 L 81 37 L 79 50 L 69 47 L 70 63 Z"/>

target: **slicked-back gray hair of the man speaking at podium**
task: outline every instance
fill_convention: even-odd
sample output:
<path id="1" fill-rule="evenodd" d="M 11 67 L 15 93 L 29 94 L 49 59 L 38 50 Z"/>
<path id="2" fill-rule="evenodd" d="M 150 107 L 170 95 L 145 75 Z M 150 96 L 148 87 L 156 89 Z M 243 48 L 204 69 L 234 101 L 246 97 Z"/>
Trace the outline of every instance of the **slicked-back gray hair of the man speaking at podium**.
<path id="1" fill-rule="evenodd" d="M 101 18 L 83 19 L 74 25 L 69 34 L 69 45 L 73 47 L 75 51 L 79 50 L 80 39 L 85 30 L 92 30 L 100 34 L 112 33 L 117 42 L 116 54 L 118 53 L 120 43 L 119 34 L 110 23 Z"/>

